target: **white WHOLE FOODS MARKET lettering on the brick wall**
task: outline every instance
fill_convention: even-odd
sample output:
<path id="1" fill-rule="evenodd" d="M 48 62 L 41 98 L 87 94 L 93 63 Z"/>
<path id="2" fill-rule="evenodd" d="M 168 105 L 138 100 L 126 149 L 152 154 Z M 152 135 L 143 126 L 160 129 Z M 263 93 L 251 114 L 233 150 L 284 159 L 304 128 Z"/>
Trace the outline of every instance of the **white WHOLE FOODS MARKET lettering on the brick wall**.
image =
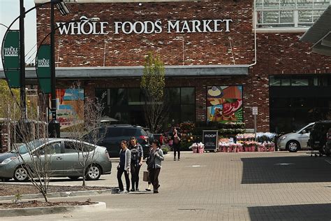
<path id="1" fill-rule="evenodd" d="M 207 33 L 207 32 L 229 32 L 232 19 L 214 20 L 168 20 L 163 25 L 161 20 L 156 21 L 124 21 L 114 22 L 91 22 L 85 16 L 80 17 L 78 22 L 57 22 L 60 34 L 160 34 L 167 33 Z M 165 30 L 164 30 L 165 29 Z"/>

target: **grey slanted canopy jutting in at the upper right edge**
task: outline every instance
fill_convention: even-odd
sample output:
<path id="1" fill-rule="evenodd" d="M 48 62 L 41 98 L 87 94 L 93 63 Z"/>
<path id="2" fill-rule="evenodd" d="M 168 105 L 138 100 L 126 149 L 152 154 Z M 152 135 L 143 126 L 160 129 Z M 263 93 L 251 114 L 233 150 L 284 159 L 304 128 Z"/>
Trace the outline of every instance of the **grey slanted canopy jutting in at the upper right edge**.
<path id="1" fill-rule="evenodd" d="M 321 17 L 304 33 L 300 41 L 314 43 L 313 52 L 331 56 L 331 6 Z"/>

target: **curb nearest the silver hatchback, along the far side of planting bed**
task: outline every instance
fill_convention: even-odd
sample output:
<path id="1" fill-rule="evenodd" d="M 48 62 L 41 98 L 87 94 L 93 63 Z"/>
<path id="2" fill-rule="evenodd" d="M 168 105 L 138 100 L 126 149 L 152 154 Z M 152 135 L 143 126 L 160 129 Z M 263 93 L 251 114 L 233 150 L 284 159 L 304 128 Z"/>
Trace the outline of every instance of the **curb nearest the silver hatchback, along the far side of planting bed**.
<path id="1" fill-rule="evenodd" d="M 47 194 L 49 198 L 55 197 L 80 197 L 80 196 L 94 196 L 100 194 L 112 194 L 114 190 L 86 190 L 86 191 L 70 191 L 70 192 L 51 192 Z M 0 201 L 7 201 L 14 199 L 15 196 L 0 197 Z M 21 199 L 43 199 L 43 194 L 22 194 Z"/>

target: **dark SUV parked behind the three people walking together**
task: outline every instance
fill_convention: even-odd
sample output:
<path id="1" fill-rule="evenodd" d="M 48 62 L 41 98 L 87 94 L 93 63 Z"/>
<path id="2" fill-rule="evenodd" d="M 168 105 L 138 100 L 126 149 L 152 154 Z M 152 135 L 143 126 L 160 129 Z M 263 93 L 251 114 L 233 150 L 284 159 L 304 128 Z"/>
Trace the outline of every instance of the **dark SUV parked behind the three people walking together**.
<path id="1" fill-rule="evenodd" d="M 142 145 L 144 158 L 149 155 L 149 136 L 146 131 L 140 126 L 128 124 L 113 124 L 98 128 L 98 134 L 101 134 L 103 139 L 96 143 L 107 148 L 110 157 L 119 157 L 120 142 L 130 141 L 131 137 L 137 138 L 138 143 Z M 84 140 L 89 142 L 89 134 L 84 136 Z"/>

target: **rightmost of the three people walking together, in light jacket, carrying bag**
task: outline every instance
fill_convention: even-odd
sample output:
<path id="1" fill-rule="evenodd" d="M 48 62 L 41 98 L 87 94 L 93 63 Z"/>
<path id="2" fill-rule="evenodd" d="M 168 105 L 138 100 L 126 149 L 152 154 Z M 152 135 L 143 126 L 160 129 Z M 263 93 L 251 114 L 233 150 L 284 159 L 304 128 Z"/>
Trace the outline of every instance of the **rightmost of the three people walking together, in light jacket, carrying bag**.
<path id="1" fill-rule="evenodd" d="M 149 152 L 149 156 L 149 164 L 147 165 L 147 169 L 149 168 L 149 180 L 151 180 L 153 185 L 153 192 L 159 193 L 159 174 L 162 167 L 162 161 L 164 160 L 160 141 L 154 140 L 152 142 L 152 150 Z"/>

